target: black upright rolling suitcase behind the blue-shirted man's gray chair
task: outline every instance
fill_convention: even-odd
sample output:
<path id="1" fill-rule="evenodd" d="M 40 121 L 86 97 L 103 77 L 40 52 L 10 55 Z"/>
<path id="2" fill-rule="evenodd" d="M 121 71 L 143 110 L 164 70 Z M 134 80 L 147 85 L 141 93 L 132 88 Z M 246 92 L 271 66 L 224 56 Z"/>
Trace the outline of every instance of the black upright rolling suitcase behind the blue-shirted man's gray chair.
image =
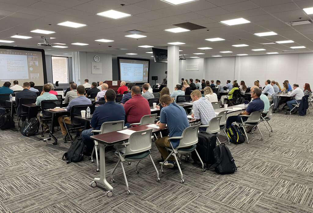
<path id="1" fill-rule="evenodd" d="M 209 165 L 214 164 L 214 155 L 213 150 L 216 147 L 216 135 L 210 134 L 208 132 L 199 132 L 198 133 L 198 143 L 197 143 L 197 152 L 203 161 L 203 164 Z M 199 161 L 198 156 L 195 152 L 191 153 L 191 158 L 194 162 Z"/>

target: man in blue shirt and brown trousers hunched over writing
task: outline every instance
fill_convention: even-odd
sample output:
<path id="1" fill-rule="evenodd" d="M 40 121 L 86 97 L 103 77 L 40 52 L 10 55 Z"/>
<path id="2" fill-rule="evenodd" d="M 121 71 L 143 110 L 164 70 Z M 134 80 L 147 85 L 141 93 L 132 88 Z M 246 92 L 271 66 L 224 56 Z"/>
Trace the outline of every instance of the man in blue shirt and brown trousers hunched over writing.
<path id="1" fill-rule="evenodd" d="M 164 130 L 166 125 L 168 127 L 168 136 L 163 138 L 158 138 L 156 140 L 156 148 L 162 155 L 163 160 L 167 158 L 169 153 L 165 147 L 171 147 L 170 142 L 167 140 L 170 137 L 182 136 L 182 132 L 189 127 L 188 119 L 186 116 L 186 111 L 184 108 L 178 106 L 173 102 L 171 96 L 163 95 L 160 98 L 160 103 L 162 109 L 160 112 L 160 121 L 156 124 L 159 125 L 161 130 Z M 171 140 L 173 148 L 176 148 L 179 145 L 179 139 Z M 162 164 L 162 162 L 160 162 Z M 175 164 L 174 156 L 171 156 L 163 166 L 166 168 L 173 168 Z"/>

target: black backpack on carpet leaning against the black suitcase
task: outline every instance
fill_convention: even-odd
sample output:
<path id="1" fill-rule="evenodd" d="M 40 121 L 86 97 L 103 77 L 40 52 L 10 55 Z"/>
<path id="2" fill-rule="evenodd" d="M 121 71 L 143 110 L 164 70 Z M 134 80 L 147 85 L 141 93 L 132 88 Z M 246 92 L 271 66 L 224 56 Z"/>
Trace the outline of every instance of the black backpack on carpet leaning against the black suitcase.
<path id="1" fill-rule="evenodd" d="M 237 170 L 232 154 L 225 143 L 221 143 L 213 151 L 215 163 L 210 169 L 215 169 L 219 174 L 233 174 Z"/>

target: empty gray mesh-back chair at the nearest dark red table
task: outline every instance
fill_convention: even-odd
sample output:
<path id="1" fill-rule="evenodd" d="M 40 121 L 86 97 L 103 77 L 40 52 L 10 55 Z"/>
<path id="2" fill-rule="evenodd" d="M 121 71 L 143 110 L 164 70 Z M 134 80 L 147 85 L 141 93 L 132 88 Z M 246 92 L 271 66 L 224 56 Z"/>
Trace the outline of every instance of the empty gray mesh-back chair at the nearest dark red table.
<path id="1" fill-rule="evenodd" d="M 133 132 L 130 135 L 128 142 L 115 145 L 115 148 L 116 148 L 115 156 L 118 157 L 119 160 L 111 173 L 111 182 L 115 182 L 115 179 L 113 178 L 113 173 L 115 172 L 118 164 L 121 164 L 124 179 L 125 179 L 125 184 L 126 184 L 127 195 L 129 195 L 131 191 L 128 189 L 128 182 L 127 182 L 123 162 L 131 163 L 131 162 L 137 161 L 136 173 L 139 173 L 138 164 L 140 163 L 142 159 L 149 156 L 152 162 L 152 165 L 154 169 L 156 170 L 156 180 L 160 181 L 159 172 L 157 171 L 156 165 L 154 164 L 153 159 L 150 155 L 151 133 L 152 133 L 152 129 Z"/>

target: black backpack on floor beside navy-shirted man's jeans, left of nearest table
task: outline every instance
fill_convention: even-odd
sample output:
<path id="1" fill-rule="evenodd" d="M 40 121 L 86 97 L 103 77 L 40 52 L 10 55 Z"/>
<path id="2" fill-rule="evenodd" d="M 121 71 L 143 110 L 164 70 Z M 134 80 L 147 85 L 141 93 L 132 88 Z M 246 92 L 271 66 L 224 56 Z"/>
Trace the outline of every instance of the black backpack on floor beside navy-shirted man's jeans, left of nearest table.
<path id="1" fill-rule="evenodd" d="M 84 159 L 84 150 L 85 144 L 83 143 L 83 139 L 76 138 L 69 150 L 64 153 L 62 160 L 68 160 L 67 164 L 71 162 L 79 162 Z"/>

